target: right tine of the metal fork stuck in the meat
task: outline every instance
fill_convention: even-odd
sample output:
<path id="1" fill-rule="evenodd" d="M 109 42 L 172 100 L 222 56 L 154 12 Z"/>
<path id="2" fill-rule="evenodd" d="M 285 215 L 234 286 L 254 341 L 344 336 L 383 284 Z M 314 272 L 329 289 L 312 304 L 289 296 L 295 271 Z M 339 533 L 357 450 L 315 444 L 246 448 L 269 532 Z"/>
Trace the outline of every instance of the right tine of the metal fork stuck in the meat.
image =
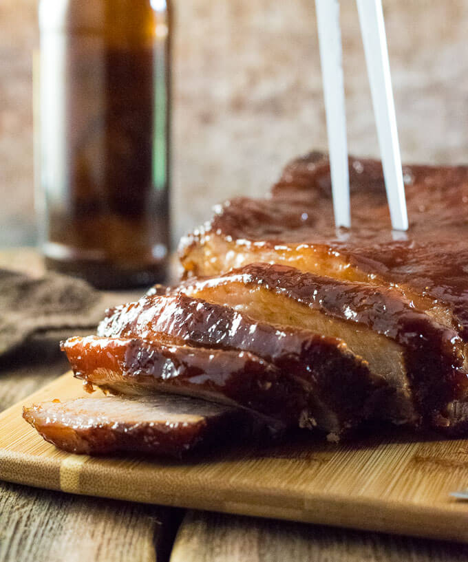
<path id="1" fill-rule="evenodd" d="M 395 107 L 388 61 L 387 39 L 381 0 L 357 0 L 368 67 L 372 105 L 382 158 L 390 219 L 394 230 L 407 230 L 408 217 L 401 155 L 396 131 Z"/>

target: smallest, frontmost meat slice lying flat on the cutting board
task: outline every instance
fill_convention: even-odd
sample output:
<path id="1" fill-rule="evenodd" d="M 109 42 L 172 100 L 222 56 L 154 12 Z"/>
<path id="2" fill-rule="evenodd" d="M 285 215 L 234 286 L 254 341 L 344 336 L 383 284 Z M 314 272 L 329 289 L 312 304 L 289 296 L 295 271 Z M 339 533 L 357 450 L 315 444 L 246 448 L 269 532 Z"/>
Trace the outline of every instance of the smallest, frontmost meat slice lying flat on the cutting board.
<path id="1" fill-rule="evenodd" d="M 181 457 L 209 444 L 248 435 L 244 411 L 184 398 L 75 398 L 23 408 L 42 437 L 70 453 L 131 452 Z"/>

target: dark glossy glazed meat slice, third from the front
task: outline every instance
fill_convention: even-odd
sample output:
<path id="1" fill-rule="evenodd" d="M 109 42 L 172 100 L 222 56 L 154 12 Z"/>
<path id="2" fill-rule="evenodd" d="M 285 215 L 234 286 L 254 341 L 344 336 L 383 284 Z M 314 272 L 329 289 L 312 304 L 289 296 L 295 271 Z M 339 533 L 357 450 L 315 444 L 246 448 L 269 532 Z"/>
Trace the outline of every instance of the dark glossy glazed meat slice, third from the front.
<path id="1" fill-rule="evenodd" d="M 296 412 L 299 425 L 323 429 L 330 440 L 357 426 L 380 394 L 389 391 L 337 338 L 257 322 L 231 307 L 183 294 L 116 307 L 98 334 L 251 352 L 273 363 L 283 380 L 292 378 L 304 388 L 307 409 Z"/>

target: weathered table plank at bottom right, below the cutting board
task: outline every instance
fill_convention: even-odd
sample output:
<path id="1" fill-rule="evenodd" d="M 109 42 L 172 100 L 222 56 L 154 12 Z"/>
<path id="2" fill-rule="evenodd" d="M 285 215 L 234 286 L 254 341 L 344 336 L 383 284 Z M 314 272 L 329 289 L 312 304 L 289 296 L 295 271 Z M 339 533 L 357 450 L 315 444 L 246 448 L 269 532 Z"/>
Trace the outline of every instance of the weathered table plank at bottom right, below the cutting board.
<path id="1" fill-rule="evenodd" d="M 462 562 L 468 545 L 189 511 L 171 562 Z"/>

